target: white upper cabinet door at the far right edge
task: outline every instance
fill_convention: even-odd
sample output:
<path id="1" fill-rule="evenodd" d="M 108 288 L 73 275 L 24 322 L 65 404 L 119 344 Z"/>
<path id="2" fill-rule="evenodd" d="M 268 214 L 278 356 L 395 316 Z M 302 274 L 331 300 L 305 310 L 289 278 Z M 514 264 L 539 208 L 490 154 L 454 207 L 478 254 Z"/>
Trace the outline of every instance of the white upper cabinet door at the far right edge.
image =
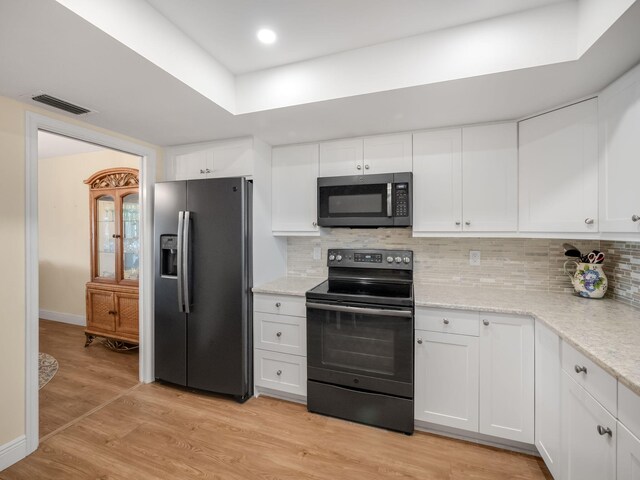
<path id="1" fill-rule="evenodd" d="M 640 68 L 608 87 L 599 105 L 600 230 L 638 233 Z"/>

